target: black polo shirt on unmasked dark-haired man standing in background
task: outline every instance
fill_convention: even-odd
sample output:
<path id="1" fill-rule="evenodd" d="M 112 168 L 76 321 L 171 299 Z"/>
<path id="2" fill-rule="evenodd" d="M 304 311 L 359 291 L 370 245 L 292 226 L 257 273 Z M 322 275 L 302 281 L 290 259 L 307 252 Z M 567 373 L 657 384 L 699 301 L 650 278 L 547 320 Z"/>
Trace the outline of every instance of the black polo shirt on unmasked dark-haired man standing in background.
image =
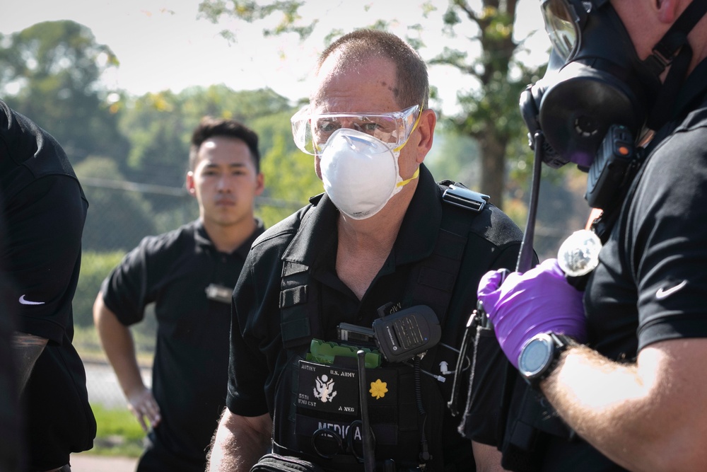
<path id="1" fill-rule="evenodd" d="M 233 253 L 216 250 L 201 221 L 148 236 L 103 282 L 105 306 L 125 326 L 155 303 L 158 323 L 152 390 L 162 420 L 153 439 L 182 464 L 204 470 L 206 447 L 226 405 L 230 299 L 209 299 L 214 284 L 233 292 L 257 230 Z"/>

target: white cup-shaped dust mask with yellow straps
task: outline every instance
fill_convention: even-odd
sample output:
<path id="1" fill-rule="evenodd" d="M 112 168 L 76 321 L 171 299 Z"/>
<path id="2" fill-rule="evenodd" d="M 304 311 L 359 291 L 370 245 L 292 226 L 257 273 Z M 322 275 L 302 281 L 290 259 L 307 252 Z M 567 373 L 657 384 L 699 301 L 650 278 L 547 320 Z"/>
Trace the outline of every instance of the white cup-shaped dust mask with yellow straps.
<path id="1" fill-rule="evenodd" d="M 320 168 L 324 189 L 340 212 L 353 219 L 370 218 L 418 177 L 419 168 L 407 180 L 400 177 L 400 149 L 356 129 L 332 133 L 320 155 Z"/>

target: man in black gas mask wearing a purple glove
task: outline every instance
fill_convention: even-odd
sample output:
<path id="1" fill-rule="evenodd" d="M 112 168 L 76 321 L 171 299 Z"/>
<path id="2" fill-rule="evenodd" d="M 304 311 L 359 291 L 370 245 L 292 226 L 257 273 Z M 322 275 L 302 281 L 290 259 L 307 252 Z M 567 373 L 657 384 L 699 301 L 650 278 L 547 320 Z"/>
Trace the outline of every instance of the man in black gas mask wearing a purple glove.
<path id="1" fill-rule="evenodd" d="M 522 110 L 545 161 L 589 171 L 603 247 L 583 281 L 553 259 L 479 284 L 503 352 L 565 428 L 518 421 L 512 404 L 499 447 L 531 453 L 514 466 L 504 454 L 513 470 L 707 464 L 706 10 L 704 0 L 542 1 L 553 70 Z"/>

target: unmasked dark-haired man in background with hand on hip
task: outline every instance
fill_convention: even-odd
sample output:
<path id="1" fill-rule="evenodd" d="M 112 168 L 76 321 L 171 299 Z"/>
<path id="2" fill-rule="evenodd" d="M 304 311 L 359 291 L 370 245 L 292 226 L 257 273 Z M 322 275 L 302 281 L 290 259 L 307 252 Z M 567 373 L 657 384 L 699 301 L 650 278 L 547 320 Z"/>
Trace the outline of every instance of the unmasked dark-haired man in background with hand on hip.
<path id="1" fill-rule="evenodd" d="M 226 401 L 230 296 L 262 223 L 255 132 L 205 117 L 192 134 L 187 189 L 199 219 L 148 236 L 103 282 L 93 317 L 120 386 L 151 445 L 138 471 L 204 471 L 206 447 Z M 155 303 L 152 389 L 136 362 L 128 326 Z"/>

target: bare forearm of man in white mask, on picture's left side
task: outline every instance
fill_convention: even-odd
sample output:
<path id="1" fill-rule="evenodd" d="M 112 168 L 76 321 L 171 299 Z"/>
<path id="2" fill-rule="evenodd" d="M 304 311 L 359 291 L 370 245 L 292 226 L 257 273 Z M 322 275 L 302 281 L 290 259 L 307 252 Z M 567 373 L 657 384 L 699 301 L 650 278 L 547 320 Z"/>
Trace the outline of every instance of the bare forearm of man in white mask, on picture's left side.
<path id="1" fill-rule="evenodd" d="M 248 472 L 270 444 L 269 416 L 248 420 L 236 417 L 228 408 L 214 435 L 209 454 L 208 472 Z"/>

